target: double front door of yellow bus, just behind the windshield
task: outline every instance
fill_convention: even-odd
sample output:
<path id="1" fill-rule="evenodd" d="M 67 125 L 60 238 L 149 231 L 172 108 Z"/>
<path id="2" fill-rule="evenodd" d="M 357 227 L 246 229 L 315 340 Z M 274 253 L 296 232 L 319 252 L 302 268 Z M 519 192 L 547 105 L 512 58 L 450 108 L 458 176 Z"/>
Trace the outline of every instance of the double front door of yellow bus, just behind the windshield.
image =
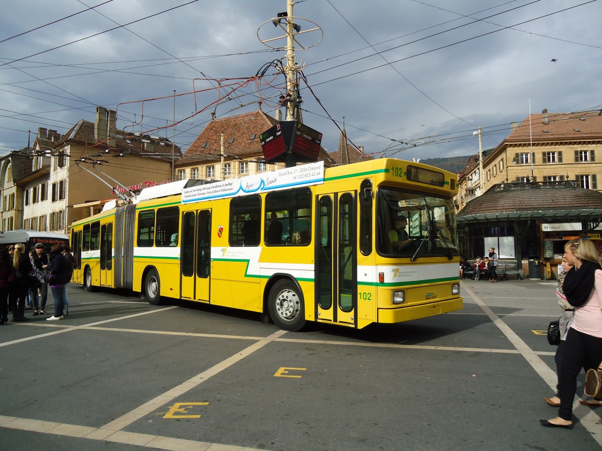
<path id="1" fill-rule="evenodd" d="M 317 210 L 315 318 L 357 327 L 355 195 L 323 195 Z"/>

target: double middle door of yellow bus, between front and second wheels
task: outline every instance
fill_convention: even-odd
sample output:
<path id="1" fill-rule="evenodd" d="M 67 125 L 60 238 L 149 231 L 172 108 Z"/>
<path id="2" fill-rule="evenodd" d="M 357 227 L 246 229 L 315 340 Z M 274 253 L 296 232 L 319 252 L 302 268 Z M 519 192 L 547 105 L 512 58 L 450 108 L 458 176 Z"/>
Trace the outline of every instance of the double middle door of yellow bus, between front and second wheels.
<path id="1" fill-rule="evenodd" d="M 180 236 L 181 297 L 209 302 L 211 210 L 183 212 Z"/>

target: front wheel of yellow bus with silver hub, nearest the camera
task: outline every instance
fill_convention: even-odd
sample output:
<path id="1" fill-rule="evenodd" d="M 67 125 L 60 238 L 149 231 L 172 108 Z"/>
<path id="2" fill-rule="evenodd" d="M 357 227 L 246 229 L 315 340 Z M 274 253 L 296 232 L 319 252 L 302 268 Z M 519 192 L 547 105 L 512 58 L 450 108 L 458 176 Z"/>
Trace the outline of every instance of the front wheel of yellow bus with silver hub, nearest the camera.
<path id="1" fill-rule="evenodd" d="M 279 328 L 299 331 L 305 326 L 305 308 L 299 289 L 290 280 L 279 280 L 270 290 L 270 316 Z"/>

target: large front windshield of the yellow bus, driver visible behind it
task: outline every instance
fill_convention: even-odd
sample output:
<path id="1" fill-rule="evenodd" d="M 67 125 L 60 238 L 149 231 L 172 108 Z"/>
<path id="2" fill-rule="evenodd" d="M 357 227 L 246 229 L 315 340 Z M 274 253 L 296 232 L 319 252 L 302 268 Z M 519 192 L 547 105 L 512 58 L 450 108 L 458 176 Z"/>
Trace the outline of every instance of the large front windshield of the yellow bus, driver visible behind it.
<path id="1" fill-rule="evenodd" d="M 459 256 L 453 200 L 406 189 L 377 192 L 376 249 L 383 256 Z"/>

